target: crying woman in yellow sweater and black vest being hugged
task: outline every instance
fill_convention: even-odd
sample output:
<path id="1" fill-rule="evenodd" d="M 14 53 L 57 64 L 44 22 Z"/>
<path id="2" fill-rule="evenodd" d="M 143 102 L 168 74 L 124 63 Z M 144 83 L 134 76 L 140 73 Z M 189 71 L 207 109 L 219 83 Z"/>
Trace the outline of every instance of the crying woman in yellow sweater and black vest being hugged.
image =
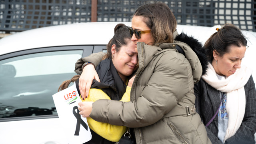
<path id="1" fill-rule="evenodd" d="M 99 99 L 130 101 L 132 83 L 128 83 L 128 76 L 137 69 L 138 53 L 130 39 L 127 26 L 117 24 L 114 32 L 113 38 L 107 45 L 107 54 L 96 68 L 101 82 L 94 80 L 89 97 L 82 100 L 84 102 L 94 102 Z M 66 89 L 70 82 L 79 84 L 79 77 L 80 75 L 76 75 L 64 81 L 59 90 Z M 82 109 L 79 110 L 82 111 Z M 87 118 L 87 121 L 92 139 L 84 144 L 114 144 L 127 132 L 125 126 L 97 122 L 92 118 Z"/>

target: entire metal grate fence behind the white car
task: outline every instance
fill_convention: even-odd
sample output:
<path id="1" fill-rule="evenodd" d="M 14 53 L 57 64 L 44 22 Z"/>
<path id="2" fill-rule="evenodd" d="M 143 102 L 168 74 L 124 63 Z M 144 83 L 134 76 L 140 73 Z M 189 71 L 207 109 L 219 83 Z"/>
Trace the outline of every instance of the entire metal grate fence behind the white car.
<path id="1" fill-rule="evenodd" d="M 178 24 L 215 26 L 232 23 L 256 32 L 256 0 L 161 0 Z M 98 22 L 127 22 L 146 0 L 98 0 Z M 0 0 L 0 31 L 91 22 L 92 0 Z"/>

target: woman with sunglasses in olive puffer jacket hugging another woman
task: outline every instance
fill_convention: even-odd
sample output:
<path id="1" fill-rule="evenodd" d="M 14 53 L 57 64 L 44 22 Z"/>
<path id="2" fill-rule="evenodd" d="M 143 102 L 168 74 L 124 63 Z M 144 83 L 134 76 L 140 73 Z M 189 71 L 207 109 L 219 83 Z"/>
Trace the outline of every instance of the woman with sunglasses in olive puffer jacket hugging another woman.
<path id="1" fill-rule="evenodd" d="M 193 88 L 200 80 L 202 66 L 190 46 L 200 49 L 202 44 L 185 34 L 179 35 L 176 26 L 176 19 L 166 4 L 140 6 L 129 28 L 139 62 L 130 102 L 80 102 L 82 116 L 133 128 L 137 144 L 210 144 L 194 106 Z M 183 49 L 184 55 L 178 48 Z M 83 77 L 79 81 L 83 94 L 90 85 L 84 81 L 85 77 L 96 77 L 87 72 L 94 68 L 90 63 L 97 66 L 102 54 L 92 54 L 76 63 L 76 72 Z"/>

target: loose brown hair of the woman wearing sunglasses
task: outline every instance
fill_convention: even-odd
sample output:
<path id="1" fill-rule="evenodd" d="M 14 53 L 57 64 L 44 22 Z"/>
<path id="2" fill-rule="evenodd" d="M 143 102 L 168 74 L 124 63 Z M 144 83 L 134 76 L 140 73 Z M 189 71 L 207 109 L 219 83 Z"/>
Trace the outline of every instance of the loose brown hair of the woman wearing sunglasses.
<path id="1" fill-rule="evenodd" d="M 173 42 L 177 21 L 167 4 L 162 2 L 146 3 L 137 8 L 134 16 L 144 17 L 143 22 L 151 29 L 150 33 L 154 39 L 152 45 Z"/>

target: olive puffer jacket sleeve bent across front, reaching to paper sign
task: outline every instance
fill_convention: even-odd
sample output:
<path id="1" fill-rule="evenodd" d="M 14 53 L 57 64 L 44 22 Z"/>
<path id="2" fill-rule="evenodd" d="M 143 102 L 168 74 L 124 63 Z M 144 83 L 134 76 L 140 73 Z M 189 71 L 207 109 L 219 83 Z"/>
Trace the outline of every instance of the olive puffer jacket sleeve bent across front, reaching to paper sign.
<path id="1" fill-rule="evenodd" d="M 139 96 L 135 96 L 136 101 L 97 100 L 93 103 L 90 117 L 96 121 L 130 128 L 154 124 L 177 106 L 185 94 L 192 91 L 194 84 L 190 67 L 184 56 L 181 60 L 163 54 L 148 84 L 144 88 L 136 86 L 143 89 Z"/>

